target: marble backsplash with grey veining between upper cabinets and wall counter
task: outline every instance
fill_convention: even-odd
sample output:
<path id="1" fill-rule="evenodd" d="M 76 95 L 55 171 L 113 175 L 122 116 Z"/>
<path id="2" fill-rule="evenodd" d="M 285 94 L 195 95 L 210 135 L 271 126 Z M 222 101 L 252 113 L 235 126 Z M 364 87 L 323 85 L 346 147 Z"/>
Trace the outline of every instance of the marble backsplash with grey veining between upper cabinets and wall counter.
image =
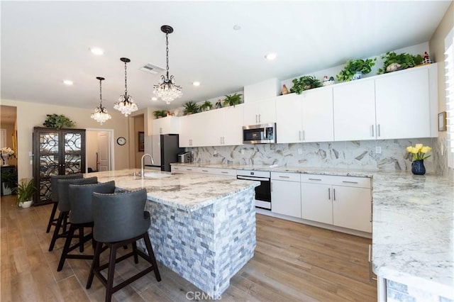
<path id="1" fill-rule="evenodd" d="M 406 140 L 361 140 L 348 142 L 305 142 L 292 144 L 193 147 L 194 162 L 204 164 L 259 164 L 298 167 L 410 170 L 411 155 L 406 147 L 422 143 L 432 147 L 424 160 L 427 172 L 452 174 L 441 156 L 443 142 L 438 138 Z M 445 146 L 445 144 L 444 144 Z M 381 153 L 376 153 L 381 147 Z M 444 147 L 445 148 L 445 147 Z M 445 152 L 444 152 L 445 154 Z"/>

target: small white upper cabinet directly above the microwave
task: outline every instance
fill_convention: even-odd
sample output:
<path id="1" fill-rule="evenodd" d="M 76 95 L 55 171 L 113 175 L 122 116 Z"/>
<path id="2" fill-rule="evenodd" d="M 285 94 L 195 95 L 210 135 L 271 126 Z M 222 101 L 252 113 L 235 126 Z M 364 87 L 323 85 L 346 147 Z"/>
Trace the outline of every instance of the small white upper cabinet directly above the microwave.
<path id="1" fill-rule="evenodd" d="M 276 123 L 276 98 L 243 104 L 243 125 Z"/>

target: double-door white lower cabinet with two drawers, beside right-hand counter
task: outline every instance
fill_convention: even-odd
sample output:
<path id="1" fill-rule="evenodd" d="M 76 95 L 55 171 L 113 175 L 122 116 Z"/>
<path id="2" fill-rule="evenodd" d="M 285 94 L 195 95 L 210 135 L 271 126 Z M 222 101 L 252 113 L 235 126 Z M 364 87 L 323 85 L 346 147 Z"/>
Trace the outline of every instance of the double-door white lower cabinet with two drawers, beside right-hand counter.
<path id="1" fill-rule="evenodd" d="M 301 218 L 372 233 L 371 213 L 369 178 L 301 175 Z"/>

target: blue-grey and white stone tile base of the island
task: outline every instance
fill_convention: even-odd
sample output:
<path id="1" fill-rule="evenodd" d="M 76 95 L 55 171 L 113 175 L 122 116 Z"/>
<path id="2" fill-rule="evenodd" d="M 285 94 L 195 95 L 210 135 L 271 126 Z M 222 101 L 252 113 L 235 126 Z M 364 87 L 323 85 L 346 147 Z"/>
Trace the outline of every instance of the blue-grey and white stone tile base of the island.
<path id="1" fill-rule="evenodd" d="M 157 261 L 220 298 L 231 277 L 254 255 L 254 194 L 250 187 L 196 211 L 148 201 L 148 233 Z"/>

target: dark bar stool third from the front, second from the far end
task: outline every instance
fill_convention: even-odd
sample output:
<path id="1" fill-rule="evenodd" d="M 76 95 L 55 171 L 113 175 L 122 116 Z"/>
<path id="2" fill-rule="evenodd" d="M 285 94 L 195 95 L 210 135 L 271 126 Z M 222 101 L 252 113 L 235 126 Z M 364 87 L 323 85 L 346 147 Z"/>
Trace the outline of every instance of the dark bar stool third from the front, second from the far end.
<path id="1" fill-rule="evenodd" d="M 54 234 L 52 235 L 52 240 L 50 240 L 49 252 L 54 249 L 55 241 L 58 238 L 66 237 L 66 230 L 62 228 L 63 221 L 67 221 L 68 213 L 70 213 L 70 201 L 67 198 L 67 190 L 70 184 L 96 184 L 98 182 L 97 177 L 81 178 L 81 179 L 58 179 L 57 180 L 57 191 L 58 191 L 58 210 L 60 214 L 58 215 L 57 225 L 55 225 Z M 79 237 L 83 234 L 79 234 Z M 84 251 L 84 245 L 80 246 L 80 252 Z"/>

